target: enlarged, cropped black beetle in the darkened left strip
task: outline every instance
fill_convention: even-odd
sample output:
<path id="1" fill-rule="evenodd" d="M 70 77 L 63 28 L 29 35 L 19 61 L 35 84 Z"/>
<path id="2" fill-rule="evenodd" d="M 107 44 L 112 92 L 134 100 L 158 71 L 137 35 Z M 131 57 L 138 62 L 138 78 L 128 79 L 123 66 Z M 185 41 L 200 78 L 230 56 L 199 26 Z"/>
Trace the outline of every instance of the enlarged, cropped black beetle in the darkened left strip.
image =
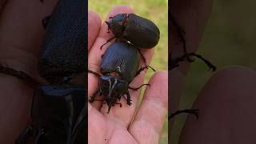
<path id="1" fill-rule="evenodd" d="M 86 142 L 86 4 L 60 0 L 48 17 L 38 71 L 50 84 L 35 90 L 32 122 L 16 144 L 31 136 L 38 144 Z"/>

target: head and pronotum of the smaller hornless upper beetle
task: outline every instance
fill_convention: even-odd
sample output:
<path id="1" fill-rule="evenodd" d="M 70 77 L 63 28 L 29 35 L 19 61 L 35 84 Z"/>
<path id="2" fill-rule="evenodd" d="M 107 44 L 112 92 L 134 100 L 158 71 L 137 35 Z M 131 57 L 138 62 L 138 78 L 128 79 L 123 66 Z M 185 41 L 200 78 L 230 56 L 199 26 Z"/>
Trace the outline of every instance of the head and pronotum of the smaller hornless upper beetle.
<path id="1" fill-rule="evenodd" d="M 109 22 L 106 22 L 108 28 L 116 37 L 122 35 L 123 30 L 126 28 L 127 14 L 117 14 L 113 18 L 110 18 Z"/>

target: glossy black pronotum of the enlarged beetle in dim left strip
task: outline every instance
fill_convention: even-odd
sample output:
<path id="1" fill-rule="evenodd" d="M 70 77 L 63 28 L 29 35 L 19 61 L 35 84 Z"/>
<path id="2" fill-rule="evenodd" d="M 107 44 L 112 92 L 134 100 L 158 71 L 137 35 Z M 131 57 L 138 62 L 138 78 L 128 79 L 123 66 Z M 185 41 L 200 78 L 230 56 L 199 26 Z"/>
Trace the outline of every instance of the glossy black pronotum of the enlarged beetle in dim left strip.
<path id="1" fill-rule="evenodd" d="M 66 144 L 67 139 L 74 138 L 75 143 L 86 142 L 87 117 L 74 129 L 81 111 L 87 112 L 87 91 L 81 86 L 41 86 L 35 93 L 32 118 L 37 130 L 45 130 L 44 137 L 50 143 Z M 71 119 L 71 122 L 69 120 Z M 83 130 L 82 133 L 78 132 Z M 78 138 L 69 133 L 78 133 Z M 43 140 L 40 140 L 42 142 Z"/>

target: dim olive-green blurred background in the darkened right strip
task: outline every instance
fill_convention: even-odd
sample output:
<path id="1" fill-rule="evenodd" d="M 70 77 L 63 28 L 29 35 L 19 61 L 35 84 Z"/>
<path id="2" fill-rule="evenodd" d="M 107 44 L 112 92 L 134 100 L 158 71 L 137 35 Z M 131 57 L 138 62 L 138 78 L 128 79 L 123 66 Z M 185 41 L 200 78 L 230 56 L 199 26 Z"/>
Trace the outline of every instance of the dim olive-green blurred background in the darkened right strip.
<path id="1" fill-rule="evenodd" d="M 218 69 L 223 66 L 242 65 L 256 70 L 255 6 L 254 0 L 215 0 L 198 54 L 209 59 Z M 180 109 L 192 106 L 202 86 L 212 75 L 207 70 L 207 66 L 199 60 L 190 66 Z M 172 144 L 178 144 L 185 118 L 185 115 L 176 117 L 171 133 Z"/>

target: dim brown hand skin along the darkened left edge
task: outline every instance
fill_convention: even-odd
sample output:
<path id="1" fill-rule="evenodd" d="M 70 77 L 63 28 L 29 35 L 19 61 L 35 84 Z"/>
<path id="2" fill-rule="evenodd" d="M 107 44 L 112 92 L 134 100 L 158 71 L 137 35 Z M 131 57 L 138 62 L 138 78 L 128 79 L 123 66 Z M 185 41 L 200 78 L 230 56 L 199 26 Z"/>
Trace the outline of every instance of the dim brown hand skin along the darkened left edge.
<path id="1" fill-rule="evenodd" d="M 0 63 L 38 76 L 38 52 L 44 37 L 42 18 L 51 14 L 57 0 L 0 2 Z M 18 78 L 0 73 L 0 143 L 14 143 L 30 122 L 34 89 Z"/>

